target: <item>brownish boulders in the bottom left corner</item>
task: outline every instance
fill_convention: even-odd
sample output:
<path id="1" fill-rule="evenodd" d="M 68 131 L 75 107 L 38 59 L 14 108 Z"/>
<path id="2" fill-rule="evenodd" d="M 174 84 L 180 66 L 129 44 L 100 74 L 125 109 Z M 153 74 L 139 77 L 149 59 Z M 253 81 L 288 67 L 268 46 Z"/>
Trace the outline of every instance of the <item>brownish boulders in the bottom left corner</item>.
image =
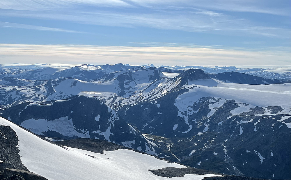
<path id="1" fill-rule="evenodd" d="M 17 178 L 23 177 L 25 180 L 48 180 L 45 177 L 42 177 L 38 174 L 35 174 L 33 172 L 29 172 L 29 171 L 24 171 L 24 170 L 4 169 L 1 172 L 1 175 L 3 175 L 3 178 L 8 178 L 8 177 L 14 176 L 15 174 L 20 175 L 18 177 L 16 176 Z"/>

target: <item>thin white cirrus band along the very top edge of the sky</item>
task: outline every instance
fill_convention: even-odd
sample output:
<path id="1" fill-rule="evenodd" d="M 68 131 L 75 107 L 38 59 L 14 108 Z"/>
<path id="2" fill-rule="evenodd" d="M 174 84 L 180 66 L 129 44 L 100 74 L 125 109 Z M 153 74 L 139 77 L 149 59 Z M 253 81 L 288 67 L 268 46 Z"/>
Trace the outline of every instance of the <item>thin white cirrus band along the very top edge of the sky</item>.
<path id="1" fill-rule="evenodd" d="M 1 0 L 0 8 L 15 10 L 40 10 L 53 8 L 73 8 L 80 5 L 90 5 L 98 7 L 145 7 L 150 9 L 208 9 L 222 10 L 230 12 L 256 12 L 264 14 L 274 14 L 290 16 L 290 1 L 286 0 Z"/>

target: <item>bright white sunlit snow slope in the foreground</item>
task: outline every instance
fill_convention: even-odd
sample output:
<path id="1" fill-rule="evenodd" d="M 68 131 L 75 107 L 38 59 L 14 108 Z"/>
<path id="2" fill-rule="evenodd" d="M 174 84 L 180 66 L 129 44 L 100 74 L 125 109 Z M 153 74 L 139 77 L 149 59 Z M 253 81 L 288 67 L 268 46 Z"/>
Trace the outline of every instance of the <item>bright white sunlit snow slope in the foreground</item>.
<path id="1" fill-rule="evenodd" d="M 21 161 L 30 171 L 49 180 L 59 179 L 168 179 L 152 174 L 148 169 L 183 168 L 147 154 L 132 150 L 115 150 L 97 154 L 75 148 L 67 149 L 49 143 L 14 123 L 0 117 L 0 124 L 10 126 L 19 139 Z M 217 176 L 185 175 L 172 179 L 203 179 Z"/>

